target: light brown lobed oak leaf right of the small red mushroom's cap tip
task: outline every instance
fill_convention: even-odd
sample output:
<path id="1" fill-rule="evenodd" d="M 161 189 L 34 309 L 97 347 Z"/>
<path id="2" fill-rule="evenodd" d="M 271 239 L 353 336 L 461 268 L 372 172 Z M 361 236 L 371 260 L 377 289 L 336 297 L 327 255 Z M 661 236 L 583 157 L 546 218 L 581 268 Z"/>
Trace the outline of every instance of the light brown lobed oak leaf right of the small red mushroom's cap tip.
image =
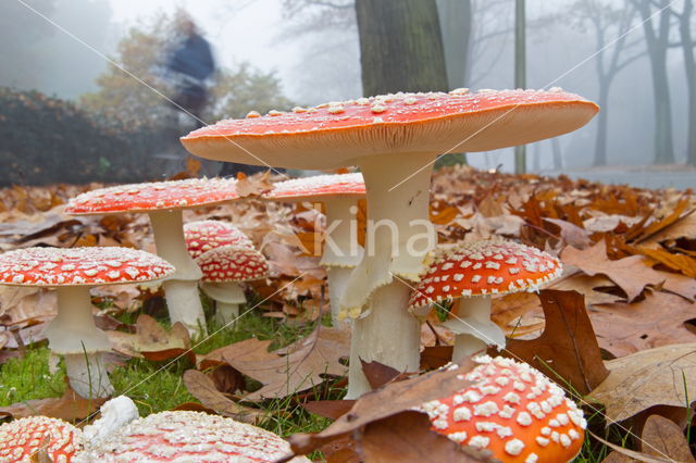
<path id="1" fill-rule="evenodd" d="M 664 289 L 687 299 L 696 296 L 696 281 L 693 278 L 652 270 L 648 264 L 649 261 L 643 255 L 631 255 L 618 261 L 609 260 L 605 241 L 599 241 L 585 250 L 568 247 L 561 253 L 561 260 L 567 265 L 579 267 L 587 275 L 607 275 L 624 290 L 629 301 L 638 297 L 648 285 L 663 285 Z"/>

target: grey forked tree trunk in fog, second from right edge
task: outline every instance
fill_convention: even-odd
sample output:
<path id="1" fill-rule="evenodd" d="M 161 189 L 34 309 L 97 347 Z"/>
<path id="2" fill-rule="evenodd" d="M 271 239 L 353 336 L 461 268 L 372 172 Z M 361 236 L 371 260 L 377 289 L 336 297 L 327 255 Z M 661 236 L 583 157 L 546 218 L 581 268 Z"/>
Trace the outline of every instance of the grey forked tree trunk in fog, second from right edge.
<path id="1" fill-rule="evenodd" d="M 672 103 L 670 101 L 669 79 L 667 77 L 667 51 L 669 46 L 670 9 L 668 0 L 660 0 L 658 32 L 656 34 L 650 18 L 650 0 L 637 2 L 643 30 L 648 45 L 650 68 L 652 73 L 652 93 L 655 98 L 655 163 L 670 164 L 674 162 L 672 143 Z"/>

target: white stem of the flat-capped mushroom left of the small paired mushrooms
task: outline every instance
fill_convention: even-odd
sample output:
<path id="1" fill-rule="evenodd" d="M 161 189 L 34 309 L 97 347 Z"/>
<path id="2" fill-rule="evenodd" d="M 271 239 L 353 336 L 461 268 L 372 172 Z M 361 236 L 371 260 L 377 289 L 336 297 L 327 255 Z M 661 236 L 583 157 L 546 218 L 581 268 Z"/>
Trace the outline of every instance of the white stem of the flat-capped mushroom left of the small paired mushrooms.
<path id="1" fill-rule="evenodd" d="M 182 211 L 156 211 L 149 215 L 158 255 L 176 268 L 162 283 L 170 320 L 184 324 L 191 335 L 204 335 L 206 316 L 198 293 L 202 273 L 186 249 Z"/>

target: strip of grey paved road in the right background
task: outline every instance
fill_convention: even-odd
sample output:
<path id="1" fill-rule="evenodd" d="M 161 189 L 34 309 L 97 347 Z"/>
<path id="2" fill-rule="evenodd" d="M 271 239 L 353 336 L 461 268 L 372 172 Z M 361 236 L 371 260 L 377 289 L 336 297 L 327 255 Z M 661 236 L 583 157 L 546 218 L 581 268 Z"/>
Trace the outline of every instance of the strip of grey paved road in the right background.
<path id="1" fill-rule="evenodd" d="M 544 175 L 556 176 L 559 172 L 545 172 Z M 686 188 L 696 189 L 696 172 L 650 172 L 650 171 L 601 171 L 601 172 L 564 172 L 571 178 L 585 178 L 602 184 L 627 184 L 636 188 Z"/>

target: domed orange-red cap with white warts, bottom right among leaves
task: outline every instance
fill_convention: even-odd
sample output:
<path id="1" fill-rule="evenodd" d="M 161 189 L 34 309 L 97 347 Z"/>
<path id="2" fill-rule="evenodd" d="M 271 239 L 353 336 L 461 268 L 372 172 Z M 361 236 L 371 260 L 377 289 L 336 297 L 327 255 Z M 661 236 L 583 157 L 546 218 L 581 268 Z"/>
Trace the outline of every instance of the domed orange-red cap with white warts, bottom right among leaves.
<path id="1" fill-rule="evenodd" d="M 423 404 L 433 430 L 488 449 L 504 462 L 567 462 L 583 445 L 586 421 L 563 390 L 526 363 L 481 355 L 472 386 Z"/>

